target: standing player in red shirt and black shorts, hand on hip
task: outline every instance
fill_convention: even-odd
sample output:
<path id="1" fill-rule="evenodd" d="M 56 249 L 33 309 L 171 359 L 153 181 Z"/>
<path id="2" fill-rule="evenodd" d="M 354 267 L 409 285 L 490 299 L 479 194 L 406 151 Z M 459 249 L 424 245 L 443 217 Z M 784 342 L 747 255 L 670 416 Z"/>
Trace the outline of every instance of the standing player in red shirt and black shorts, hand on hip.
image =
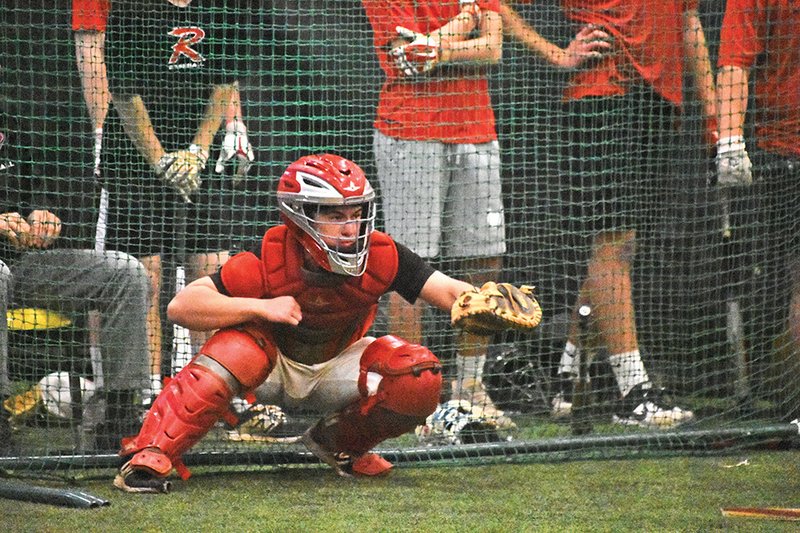
<path id="1" fill-rule="evenodd" d="M 590 258 L 573 308 L 559 366 L 556 418 L 572 410 L 571 384 L 581 356 L 577 310 L 589 305 L 598 346 L 604 347 L 619 387 L 614 421 L 671 428 L 692 420 L 668 405 L 645 370 L 634 313 L 631 267 L 642 193 L 663 181 L 670 165 L 670 137 L 683 105 L 688 68 L 706 117 L 706 143 L 717 140 L 713 73 L 697 0 L 562 0 L 567 19 L 580 29 L 566 49 L 549 43 L 508 3 L 506 32 L 554 65 L 581 68 L 564 89 L 570 153 L 563 173 L 570 202 L 592 234 Z M 637 216 L 638 213 L 638 216 Z"/>

